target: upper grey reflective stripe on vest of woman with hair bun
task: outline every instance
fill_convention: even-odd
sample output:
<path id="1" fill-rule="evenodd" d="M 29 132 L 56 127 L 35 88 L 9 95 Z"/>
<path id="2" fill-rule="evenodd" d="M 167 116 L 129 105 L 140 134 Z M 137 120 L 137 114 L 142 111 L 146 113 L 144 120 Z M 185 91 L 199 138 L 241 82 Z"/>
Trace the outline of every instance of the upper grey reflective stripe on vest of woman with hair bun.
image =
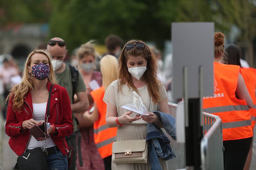
<path id="1" fill-rule="evenodd" d="M 224 111 L 235 111 L 235 110 L 249 110 L 248 106 L 245 105 L 229 105 L 229 106 L 219 106 L 203 109 L 206 113 L 218 113 Z"/>

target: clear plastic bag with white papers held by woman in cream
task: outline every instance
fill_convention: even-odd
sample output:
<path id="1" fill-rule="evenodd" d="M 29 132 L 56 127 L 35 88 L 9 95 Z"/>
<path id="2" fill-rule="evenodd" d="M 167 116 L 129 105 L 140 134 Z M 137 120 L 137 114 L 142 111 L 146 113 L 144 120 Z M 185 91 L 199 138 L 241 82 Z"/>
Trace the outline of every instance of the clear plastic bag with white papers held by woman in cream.
<path id="1" fill-rule="evenodd" d="M 142 102 L 142 99 L 135 91 L 132 92 L 131 100 L 133 100 L 133 104 L 125 104 L 124 106 L 121 106 L 121 108 L 130 110 L 140 115 L 144 115 L 144 116 L 149 115 L 146 106 Z"/>

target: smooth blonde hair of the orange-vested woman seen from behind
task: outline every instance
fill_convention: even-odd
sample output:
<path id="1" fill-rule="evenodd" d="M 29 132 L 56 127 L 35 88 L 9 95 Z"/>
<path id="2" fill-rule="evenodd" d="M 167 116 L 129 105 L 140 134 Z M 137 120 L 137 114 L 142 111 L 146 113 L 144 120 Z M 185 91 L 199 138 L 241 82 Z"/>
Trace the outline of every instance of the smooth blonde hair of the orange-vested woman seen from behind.
<path id="1" fill-rule="evenodd" d="M 100 60 L 100 71 L 102 74 L 102 85 L 104 90 L 108 88 L 112 81 L 118 76 L 118 61 L 113 55 L 105 55 Z"/>

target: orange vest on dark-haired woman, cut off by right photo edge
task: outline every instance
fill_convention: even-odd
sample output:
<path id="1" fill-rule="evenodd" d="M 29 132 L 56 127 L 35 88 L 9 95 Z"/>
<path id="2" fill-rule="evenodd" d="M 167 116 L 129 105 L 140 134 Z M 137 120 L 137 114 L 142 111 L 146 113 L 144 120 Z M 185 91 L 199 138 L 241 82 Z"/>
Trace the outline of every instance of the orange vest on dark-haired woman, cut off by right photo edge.
<path id="1" fill-rule="evenodd" d="M 245 85 L 248 89 L 250 96 L 252 97 L 253 107 L 250 109 L 252 129 L 254 128 L 256 121 L 256 69 L 254 68 L 241 68 L 241 74 L 244 78 Z"/>

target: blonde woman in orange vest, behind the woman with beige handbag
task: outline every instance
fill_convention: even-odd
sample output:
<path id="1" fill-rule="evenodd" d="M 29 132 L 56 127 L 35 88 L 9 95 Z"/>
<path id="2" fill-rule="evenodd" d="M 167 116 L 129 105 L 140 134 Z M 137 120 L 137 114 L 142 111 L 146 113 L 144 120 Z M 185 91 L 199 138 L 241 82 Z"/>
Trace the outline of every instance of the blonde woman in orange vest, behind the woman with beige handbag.
<path id="1" fill-rule="evenodd" d="M 112 143 L 116 138 L 117 128 L 108 128 L 106 124 L 107 105 L 103 102 L 108 85 L 117 79 L 118 61 L 112 55 L 106 55 L 100 60 L 102 85 L 91 92 L 94 101 L 94 111 L 84 113 L 84 117 L 94 122 L 94 142 L 105 165 L 105 170 L 111 170 Z"/>

